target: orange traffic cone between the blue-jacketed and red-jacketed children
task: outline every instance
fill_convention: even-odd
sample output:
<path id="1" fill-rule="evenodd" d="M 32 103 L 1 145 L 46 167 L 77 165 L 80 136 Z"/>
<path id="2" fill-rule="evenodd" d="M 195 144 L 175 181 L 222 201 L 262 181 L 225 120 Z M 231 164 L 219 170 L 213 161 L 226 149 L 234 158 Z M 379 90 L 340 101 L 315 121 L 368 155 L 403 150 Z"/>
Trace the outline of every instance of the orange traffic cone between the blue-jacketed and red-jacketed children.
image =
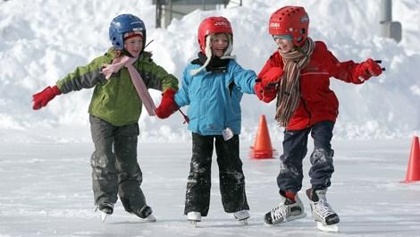
<path id="1" fill-rule="evenodd" d="M 271 159 L 273 158 L 274 151 L 272 141 L 270 140 L 270 134 L 268 133 L 265 115 L 263 114 L 259 120 L 258 131 L 256 131 L 256 141 L 254 147 L 251 147 L 249 156 L 254 159 Z"/>

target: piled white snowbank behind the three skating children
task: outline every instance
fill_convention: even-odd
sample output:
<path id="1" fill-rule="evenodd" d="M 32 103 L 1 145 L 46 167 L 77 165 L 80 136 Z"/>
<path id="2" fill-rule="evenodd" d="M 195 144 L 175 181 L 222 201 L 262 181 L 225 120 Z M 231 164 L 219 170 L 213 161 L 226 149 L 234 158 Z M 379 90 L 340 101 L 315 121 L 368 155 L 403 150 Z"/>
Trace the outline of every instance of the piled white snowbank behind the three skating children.
<path id="1" fill-rule="evenodd" d="M 238 1 L 237 1 L 238 2 Z M 34 112 L 31 95 L 103 55 L 110 42 L 108 26 L 121 13 L 139 15 L 147 25 L 147 47 L 156 63 L 181 79 L 184 67 L 197 54 L 197 27 L 210 15 L 223 15 L 233 27 L 233 54 L 245 68 L 259 72 L 275 50 L 268 19 L 287 4 L 303 5 L 309 13 L 309 34 L 323 40 L 341 60 L 382 59 L 387 68 L 364 85 L 332 79 L 340 100 L 335 136 L 339 139 L 410 138 L 420 133 L 420 0 L 393 1 L 393 21 L 402 24 L 402 41 L 379 38 L 380 0 L 244 0 L 217 11 L 195 11 L 167 29 L 155 29 L 150 0 L 11 0 L 0 1 L 0 141 L 88 142 L 88 103 L 93 89 L 56 97 Z M 147 41 L 148 41 L 147 40 Z M 152 90 L 155 102 L 159 91 Z M 275 139 L 281 130 L 273 120 L 274 104 L 255 96 L 242 101 L 242 138 L 253 139 L 260 114 L 266 114 Z M 184 111 L 187 108 L 184 108 Z M 140 140 L 188 140 L 181 114 L 161 121 L 143 114 Z"/>

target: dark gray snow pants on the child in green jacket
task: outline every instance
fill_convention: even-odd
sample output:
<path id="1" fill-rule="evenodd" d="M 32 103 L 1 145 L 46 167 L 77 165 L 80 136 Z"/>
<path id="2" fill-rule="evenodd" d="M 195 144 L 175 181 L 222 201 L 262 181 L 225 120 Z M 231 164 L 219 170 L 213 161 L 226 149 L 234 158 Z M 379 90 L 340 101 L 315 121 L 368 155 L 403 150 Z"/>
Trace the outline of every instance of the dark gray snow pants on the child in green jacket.
<path id="1" fill-rule="evenodd" d="M 116 127 L 93 115 L 89 121 L 95 143 L 90 158 L 95 204 L 115 203 L 118 193 L 126 211 L 138 211 L 146 205 L 137 162 L 139 124 Z"/>

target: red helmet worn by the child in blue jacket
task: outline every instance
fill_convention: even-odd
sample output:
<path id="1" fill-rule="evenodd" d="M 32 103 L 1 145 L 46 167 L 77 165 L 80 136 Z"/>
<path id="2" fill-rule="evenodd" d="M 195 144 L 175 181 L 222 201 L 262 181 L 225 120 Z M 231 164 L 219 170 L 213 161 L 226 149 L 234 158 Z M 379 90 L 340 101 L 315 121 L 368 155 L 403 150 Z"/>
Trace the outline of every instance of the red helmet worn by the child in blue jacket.
<path id="1" fill-rule="evenodd" d="M 215 33 L 228 33 L 233 36 L 231 22 L 223 16 L 211 16 L 201 21 L 198 27 L 198 44 L 203 54 L 206 54 L 206 36 Z"/>

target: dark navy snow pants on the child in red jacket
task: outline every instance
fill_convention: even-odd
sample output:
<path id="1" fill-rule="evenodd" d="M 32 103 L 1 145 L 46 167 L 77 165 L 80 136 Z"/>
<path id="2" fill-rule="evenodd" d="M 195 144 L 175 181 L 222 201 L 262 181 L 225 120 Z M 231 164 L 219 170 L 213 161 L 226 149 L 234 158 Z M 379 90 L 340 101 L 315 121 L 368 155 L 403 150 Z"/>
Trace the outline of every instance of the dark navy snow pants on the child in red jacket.
<path id="1" fill-rule="evenodd" d="M 331 185 L 334 172 L 331 148 L 334 123 L 324 121 L 297 131 L 284 131 L 283 154 L 280 157 L 281 168 L 277 176 L 277 185 L 282 191 L 298 192 L 302 188 L 302 161 L 307 155 L 309 133 L 314 139 L 314 151 L 311 154 L 310 182 L 313 189 L 324 189 Z"/>

